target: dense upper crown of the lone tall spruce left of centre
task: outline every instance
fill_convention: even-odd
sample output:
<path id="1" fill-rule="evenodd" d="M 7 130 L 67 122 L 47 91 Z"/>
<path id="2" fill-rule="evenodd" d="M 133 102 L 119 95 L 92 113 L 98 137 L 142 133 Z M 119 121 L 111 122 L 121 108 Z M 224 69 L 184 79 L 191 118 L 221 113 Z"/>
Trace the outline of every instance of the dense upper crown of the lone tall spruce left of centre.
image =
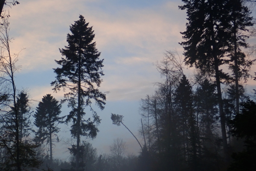
<path id="1" fill-rule="evenodd" d="M 100 77 L 104 75 L 102 71 L 104 59 L 99 59 L 100 52 L 96 49 L 96 42 L 93 42 L 95 34 L 92 26 L 89 27 L 88 24 L 82 15 L 79 16 L 79 20 L 71 24 L 71 34 L 67 34 L 68 45 L 59 49 L 65 58 L 55 60 L 62 67 L 53 69 L 57 76 L 51 85 L 55 86 L 53 88 L 55 92 L 61 88 L 64 90 L 69 88 L 71 92 L 66 93 L 64 97 L 72 106 L 75 104 L 73 97 L 77 99 L 78 85 L 81 84 L 81 96 L 87 98 L 85 101 L 81 99 L 83 104 L 90 106 L 90 99 L 94 99 L 99 108 L 103 110 L 106 97 L 96 87 L 102 83 Z"/>

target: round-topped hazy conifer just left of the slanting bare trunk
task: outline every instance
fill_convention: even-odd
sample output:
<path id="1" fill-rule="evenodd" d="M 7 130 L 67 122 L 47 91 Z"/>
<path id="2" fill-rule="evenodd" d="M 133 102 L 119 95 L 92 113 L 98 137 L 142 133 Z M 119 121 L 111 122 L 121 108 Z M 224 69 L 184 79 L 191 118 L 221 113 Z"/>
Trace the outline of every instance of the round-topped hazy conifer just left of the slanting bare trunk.
<path id="1" fill-rule="evenodd" d="M 215 171 L 219 167 L 216 160 L 219 158 L 219 148 L 215 146 L 215 141 L 218 140 L 218 136 L 215 135 L 215 125 L 218 122 L 218 97 L 215 84 L 207 78 L 200 81 L 195 91 L 194 103 L 200 139 L 198 148 L 200 170 Z"/>

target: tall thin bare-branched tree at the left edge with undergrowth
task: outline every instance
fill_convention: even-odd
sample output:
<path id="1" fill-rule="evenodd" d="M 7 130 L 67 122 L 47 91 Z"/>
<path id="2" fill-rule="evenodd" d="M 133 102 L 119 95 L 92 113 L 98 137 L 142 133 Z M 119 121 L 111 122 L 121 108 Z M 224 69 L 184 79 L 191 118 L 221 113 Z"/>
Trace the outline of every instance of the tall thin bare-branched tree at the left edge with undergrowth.
<path id="1" fill-rule="evenodd" d="M 9 14 L 4 14 L 9 16 Z M 18 54 L 11 55 L 8 17 L 2 17 L 0 25 L 0 149 L 1 171 L 22 171 L 25 168 L 38 167 L 40 161 L 35 158 L 34 148 L 38 147 L 31 140 L 22 141 L 20 137 L 20 103 L 17 100 L 15 72 L 19 67 L 15 65 Z"/>

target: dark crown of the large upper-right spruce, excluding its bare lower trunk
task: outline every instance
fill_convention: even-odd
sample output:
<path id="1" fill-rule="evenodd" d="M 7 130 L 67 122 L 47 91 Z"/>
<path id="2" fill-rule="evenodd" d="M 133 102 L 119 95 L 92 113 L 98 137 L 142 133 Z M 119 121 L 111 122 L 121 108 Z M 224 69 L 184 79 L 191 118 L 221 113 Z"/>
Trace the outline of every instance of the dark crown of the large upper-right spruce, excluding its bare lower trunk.
<path id="1" fill-rule="evenodd" d="M 224 41 L 221 22 L 221 9 L 223 0 L 183 0 L 185 5 L 180 9 L 187 9 L 189 23 L 186 31 L 182 32 L 184 42 L 180 43 L 184 48 L 185 61 L 188 65 L 205 72 L 215 72 L 214 58 L 217 65 L 223 64 L 221 59 L 224 54 Z M 216 43 L 218 42 L 218 43 Z"/>

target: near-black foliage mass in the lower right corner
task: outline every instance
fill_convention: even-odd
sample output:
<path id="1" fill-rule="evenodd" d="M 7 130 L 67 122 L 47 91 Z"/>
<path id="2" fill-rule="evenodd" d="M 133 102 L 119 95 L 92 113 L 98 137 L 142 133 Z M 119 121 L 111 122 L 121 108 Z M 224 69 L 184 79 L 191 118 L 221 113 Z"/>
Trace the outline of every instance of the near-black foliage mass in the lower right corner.
<path id="1" fill-rule="evenodd" d="M 246 149 L 233 153 L 233 163 L 228 171 L 254 171 L 256 168 L 256 103 L 248 100 L 243 104 L 241 114 L 236 114 L 230 124 L 233 126 L 233 136 L 244 138 Z"/>

